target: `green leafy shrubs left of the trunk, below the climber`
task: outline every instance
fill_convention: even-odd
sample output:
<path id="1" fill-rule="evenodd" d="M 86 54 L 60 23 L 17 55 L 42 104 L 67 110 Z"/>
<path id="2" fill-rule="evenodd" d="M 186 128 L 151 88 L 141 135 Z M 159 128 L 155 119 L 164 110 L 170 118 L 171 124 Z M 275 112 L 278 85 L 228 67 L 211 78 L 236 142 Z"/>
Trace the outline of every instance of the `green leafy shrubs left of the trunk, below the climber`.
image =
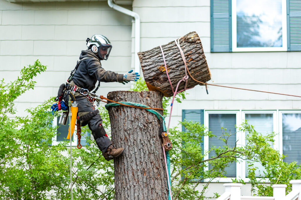
<path id="1" fill-rule="evenodd" d="M 9 118 L 16 113 L 14 100 L 33 89 L 33 77 L 45 69 L 36 61 L 14 82 L 0 82 L 0 199 L 70 199 L 68 142 L 49 146 L 57 134 L 54 116 L 46 112 L 53 98 L 28 109 L 27 117 Z M 108 113 L 104 108 L 101 112 L 107 126 Z M 72 164 L 74 199 L 113 199 L 113 162 L 105 161 L 96 145 L 73 148 Z"/>

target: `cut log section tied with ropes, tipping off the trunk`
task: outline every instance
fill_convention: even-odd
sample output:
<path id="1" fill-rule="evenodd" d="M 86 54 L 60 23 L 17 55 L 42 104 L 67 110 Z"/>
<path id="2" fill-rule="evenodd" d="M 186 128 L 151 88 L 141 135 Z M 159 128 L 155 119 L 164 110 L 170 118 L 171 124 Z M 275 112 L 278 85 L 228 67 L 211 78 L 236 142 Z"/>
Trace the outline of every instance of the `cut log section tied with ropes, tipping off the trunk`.
<path id="1" fill-rule="evenodd" d="M 191 76 L 198 81 L 209 81 L 211 79 L 211 74 L 204 55 L 201 40 L 197 33 L 195 31 L 188 33 L 180 38 L 179 43 L 184 52 Z M 173 89 L 175 90 L 179 80 L 185 76 L 185 65 L 175 41 L 163 45 L 162 49 L 165 55 L 167 72 Z M 160 47 L 157 46 L 145 52 L 138 52 L 138 56 L 143 76 L 149 90 L 160 91 L 166 97 L 172 96 L 172 89 L 166 76 Z M 187 88 L 194 87 L 198 84 L 198 82 L 189 77 Z M 181 82 L 178 91 L 184 89 L 184 86 L 185 82 Z"/>

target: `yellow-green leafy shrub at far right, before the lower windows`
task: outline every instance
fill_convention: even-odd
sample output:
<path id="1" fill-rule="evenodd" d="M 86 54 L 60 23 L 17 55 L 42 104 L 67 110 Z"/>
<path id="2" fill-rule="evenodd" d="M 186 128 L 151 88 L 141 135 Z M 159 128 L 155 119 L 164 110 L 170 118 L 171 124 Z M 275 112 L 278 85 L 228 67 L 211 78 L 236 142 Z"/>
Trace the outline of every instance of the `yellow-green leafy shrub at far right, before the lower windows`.
<path id="1" fill-rule="evenodd" d="M 248 151 L 247 154 L 253 153 L 254 156 L 251 160 L 260 162 L 264 167 L 264 171 L 261 172 L 262 177 L 256 177 L 255 171 L 257 167 L 254 167 L 253 163 L 249 162 L 248 178 L 250 178 L 253 194 L 273 196 L 271 186 L 274 184 L 286 184 L 286 193 L 289 193 L 291 191 L 290 180 L 301 179 L 301 166 L 297 165 L 296 162 L 283 162 L 285 156 L 279 154 L 279 151 L 271 147 L 271 144 L 275 142 L 274 133 L 262 136 L 247 122 L 243 123 L 239 130 L 248 132 L 246 136 L 246 150 Z M 262 184 L 266 179 L 270 184 Z"/>

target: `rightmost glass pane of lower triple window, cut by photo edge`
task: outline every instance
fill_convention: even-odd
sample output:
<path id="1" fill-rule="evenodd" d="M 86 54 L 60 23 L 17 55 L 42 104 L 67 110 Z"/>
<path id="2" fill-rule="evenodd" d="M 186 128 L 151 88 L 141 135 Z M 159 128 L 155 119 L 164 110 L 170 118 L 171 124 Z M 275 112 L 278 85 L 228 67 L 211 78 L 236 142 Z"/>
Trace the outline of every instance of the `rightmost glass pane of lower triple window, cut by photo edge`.
<path id="1" fill-rule="evenodd" d="M 282 144 L 284 162 L 301 163 L 301 114 L 282 114 Z"/>

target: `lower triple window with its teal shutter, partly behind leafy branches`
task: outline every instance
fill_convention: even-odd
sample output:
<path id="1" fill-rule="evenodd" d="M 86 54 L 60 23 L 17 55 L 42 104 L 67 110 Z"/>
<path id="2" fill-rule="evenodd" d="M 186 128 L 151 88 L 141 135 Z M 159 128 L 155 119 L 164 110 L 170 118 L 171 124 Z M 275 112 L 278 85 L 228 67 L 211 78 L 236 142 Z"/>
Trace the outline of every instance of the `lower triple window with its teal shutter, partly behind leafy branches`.
<path id="1" fill-rule="evenodd" d="M 218 139 L 222 135 L 221 127 L 227 128 L 227 133 L 235 133 L 235 124 L 242 124 L 245 120 L 248 120 L 249 124 L 252 124 L 255 130 L 266 136 L 269 133 L 276 134 L 274 144 L 271 142 L 271 146 L 279 150 L 280 154 L 287 155 L 284 158 L 284 162 L 291 163 L 297 162 L 301 164 L 301 111 L 278 111 L 278 110 L 252 110 L 252 111 L 204 111 L 204 110 L 182 110 L 182 120 L 198 121 L 204 123 L 214 135 L 217 137 L 209 138 L 204 136 L 204 151 L 207 152 L 212 146 L 225 146 L 225 144 Z M 183 131 L 185 131 L 183 129 Z M 237 132 L 236 135 L 230 136 L 228 139 L 228 145 L 233 147 L 235 142 L 237 145 L 245 145 L 246 135 L 248 133 Z M 215 152 L 209 152 L 205 155 L 204 159 L 215 156 Z M 253 161 L 252 161 L 253 162 Z M 217 178 L 215 181 L 231 182 L 233 178 L 244 179 L 249 181 L 248 177 L 248 165 L 251 161 L 245 161 L 240 159 L 239 162 L 225 169 L 227 178 Z M 257 177 L 264 175 L 264 168 L 260 163 L 252 163 L 258 169 L 255 171 Z M 209 170 L 210 165 L 205 170 Z M 206 182 L 206 180 L 204 180 Z"/>

